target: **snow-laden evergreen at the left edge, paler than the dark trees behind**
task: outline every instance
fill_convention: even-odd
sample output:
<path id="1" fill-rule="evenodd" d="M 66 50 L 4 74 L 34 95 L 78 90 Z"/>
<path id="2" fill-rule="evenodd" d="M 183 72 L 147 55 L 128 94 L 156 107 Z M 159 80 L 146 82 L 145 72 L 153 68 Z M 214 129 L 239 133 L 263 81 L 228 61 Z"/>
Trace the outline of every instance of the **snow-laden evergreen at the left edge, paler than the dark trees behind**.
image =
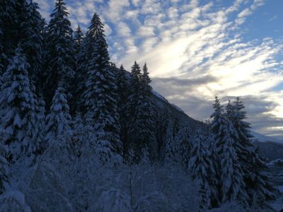
<path id="1" fill-rule="evenodd" d="M 0 98 L 0 125 L 8 133 L 4 142 L 9 147 L 9 160 L 12 161 L 28 153 L 37 131 L 35 99 L 27 71 L 29 65 L 21 51 L 21 48 L 16 49 L 16 56 L 4 73 Z"/>

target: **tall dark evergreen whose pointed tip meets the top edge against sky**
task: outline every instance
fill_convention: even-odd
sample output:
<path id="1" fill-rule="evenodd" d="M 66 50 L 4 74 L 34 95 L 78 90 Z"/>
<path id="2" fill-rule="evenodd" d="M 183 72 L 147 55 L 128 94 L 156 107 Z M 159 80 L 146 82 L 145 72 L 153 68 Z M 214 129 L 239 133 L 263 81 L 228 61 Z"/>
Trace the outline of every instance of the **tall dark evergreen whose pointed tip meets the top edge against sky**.
<path id="1" fill-rule="evenodd" d="M 57 0 L 51 13 L 47 34 L 47 52 L 45 56 L 45 86 L 44 95 L 47 109 L 52 102 L 55 90 L 62 86 L 66 91 L 69 82 L 74 78 L 74 41 L 73 30 L 68 19 L 64 0 Z M 69 93 L 67 93 L 69 98 Z"/>

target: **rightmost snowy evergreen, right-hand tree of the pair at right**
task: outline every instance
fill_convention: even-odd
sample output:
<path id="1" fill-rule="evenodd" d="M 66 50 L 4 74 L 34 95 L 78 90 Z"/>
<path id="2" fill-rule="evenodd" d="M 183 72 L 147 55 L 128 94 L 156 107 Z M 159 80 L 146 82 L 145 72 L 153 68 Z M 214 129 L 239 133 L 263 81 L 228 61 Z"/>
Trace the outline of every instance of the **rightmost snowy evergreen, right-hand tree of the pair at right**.
<path id="1" fill-rule="evenodd" d="M 265 206 L 266 201 L 275 199 L 274 187 L 267 174 L 265 159 L 259 155 L 258 150 L 251 143 L 250 124 L 245 122 L 246 112 L 243 102 L 237 98 L 233 102 L 231 120 L 238 134 L 238 157 L 243 167 L 246 190 L 250 196 L 249 204 Z"/>

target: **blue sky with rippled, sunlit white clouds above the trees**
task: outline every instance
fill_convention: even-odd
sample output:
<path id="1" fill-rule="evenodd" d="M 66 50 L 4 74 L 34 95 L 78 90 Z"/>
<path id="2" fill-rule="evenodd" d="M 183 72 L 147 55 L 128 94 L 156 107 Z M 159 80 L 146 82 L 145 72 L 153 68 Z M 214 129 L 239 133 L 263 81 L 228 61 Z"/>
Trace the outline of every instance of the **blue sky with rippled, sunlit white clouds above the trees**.
<path id="1" fill-rule="evenodd" d="M 35 0 L 47 18 L 54 1 Z M 65 0 L 72 28 L 96 12 L 112 61 L 147 63 L 151 86 L 190 117 L 243 100 L 253 130 L 283 141 L 282 0 Z"/>

